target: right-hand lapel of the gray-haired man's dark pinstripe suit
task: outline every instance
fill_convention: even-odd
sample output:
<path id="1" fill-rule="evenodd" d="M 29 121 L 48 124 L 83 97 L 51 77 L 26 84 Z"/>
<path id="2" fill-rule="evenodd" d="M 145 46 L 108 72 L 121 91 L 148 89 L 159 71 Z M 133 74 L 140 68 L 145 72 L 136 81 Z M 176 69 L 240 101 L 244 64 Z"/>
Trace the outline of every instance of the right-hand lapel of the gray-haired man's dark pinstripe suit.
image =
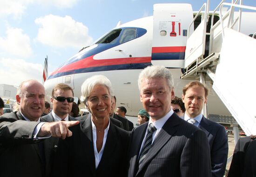
<path id="1" fill-rule="evenodd" d="M 155 141 L 153 142 L 146 157 L 144 158 L 141 167 L 137 172 L 137 175 L 145 167 L 146 164 L 150 163 L 150 161 L 156 156 L 156 154 L 162 149 L 162 147 L 176 133 L 177 125 L 179 125 L 179 119 L 180 118 L 177 117 L 177 115 L 172 114 L 172 116 L 165 122 L 165 124 L 162 126 L 161 131 L 155 137 Z"/>

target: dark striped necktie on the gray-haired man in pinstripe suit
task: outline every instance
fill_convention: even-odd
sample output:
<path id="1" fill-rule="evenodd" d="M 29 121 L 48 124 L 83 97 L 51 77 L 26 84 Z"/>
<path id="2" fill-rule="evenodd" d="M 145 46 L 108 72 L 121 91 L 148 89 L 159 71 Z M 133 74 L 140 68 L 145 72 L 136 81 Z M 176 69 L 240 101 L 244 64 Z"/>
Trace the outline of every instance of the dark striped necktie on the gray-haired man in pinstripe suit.
<path id="1" fill-rule="evenodd" d="M 152 134 L 155 132 L 156 128 L 155 126 L 150 123 L 148 125 L 148 133 L 146 136 L 146 140 L 145 140 L 145 144 L 143 146 L 143 148 L 141 149 L 141 155 L 139 158 L 139 167 L 142 164 L 143 159 L 146 157 L 147 152 L 149 151 L 150 147 L 152 146 Z"/>

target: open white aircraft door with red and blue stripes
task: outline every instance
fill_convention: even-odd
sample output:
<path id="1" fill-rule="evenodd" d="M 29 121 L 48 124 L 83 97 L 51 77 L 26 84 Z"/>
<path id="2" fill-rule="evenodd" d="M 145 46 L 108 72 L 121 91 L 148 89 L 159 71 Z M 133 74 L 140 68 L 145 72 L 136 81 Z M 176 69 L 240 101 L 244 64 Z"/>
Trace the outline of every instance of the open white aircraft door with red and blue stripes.
<path id="1" fill-rule="evenodd" d="M 193 11 L 190 4 L 154 5 L 151 56 L 153 65 L 184 68 L 187 33 L 192 20 Z M 190 29 L 191 32 L 193 30 Z"/>

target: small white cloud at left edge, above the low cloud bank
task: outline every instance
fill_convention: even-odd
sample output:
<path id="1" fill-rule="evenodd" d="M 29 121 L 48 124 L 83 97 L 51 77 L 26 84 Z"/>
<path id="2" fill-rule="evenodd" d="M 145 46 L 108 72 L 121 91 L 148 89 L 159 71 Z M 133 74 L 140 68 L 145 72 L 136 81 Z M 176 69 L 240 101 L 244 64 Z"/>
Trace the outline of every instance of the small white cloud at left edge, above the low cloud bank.
<path id="1" fill-rule="evenodd" d="M 32 55 L 30 38 L 20 28 L 7 27 L 7 36 L 0 37 L 0 49 L 20 57 Z"/>

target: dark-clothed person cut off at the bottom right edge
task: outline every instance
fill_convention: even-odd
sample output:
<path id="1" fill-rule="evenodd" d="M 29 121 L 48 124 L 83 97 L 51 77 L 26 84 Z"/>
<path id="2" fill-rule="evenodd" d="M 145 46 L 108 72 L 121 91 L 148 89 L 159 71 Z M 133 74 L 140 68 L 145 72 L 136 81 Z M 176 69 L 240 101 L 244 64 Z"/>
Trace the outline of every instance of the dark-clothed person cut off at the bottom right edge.
<path id="1" fill-rule="evenodd" d="M 256 136 L 238 140 L 228 177 L 256 177 Z"/>

